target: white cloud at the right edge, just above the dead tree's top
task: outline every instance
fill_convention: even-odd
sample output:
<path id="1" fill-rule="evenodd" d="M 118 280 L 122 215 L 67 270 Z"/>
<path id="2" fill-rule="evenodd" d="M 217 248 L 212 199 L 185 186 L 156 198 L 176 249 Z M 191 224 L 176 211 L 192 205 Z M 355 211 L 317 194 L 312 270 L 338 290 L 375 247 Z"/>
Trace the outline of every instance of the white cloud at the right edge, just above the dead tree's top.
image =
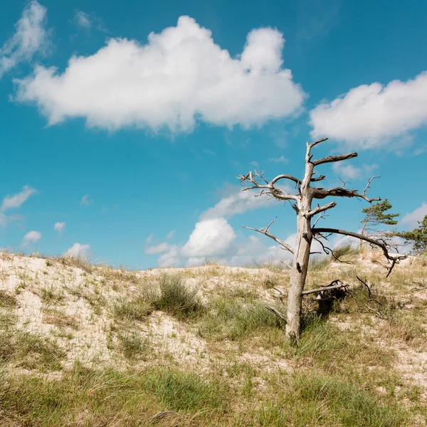
<path id="1" fill-rule="evenodd" d="M 312 137 L 339 139 L 361 149 L 381 147 L 391 139 L 427 125 L 427 71 L 413 80 L 360 85 L 322 102 L 310 112 Z"/>

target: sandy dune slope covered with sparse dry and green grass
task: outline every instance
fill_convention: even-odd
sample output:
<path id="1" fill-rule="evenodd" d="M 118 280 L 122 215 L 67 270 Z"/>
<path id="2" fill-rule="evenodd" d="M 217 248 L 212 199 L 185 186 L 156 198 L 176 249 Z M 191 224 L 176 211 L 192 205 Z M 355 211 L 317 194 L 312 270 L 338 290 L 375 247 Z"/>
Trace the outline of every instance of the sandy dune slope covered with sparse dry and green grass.
<path id="1" fill-rule="evenodd" d="M 283 268 L 0 255 L 0 425 L 425 426 L 427 265 L 371 258 L 312 261 L 307 288 L 350 289 L 322 317 L 305 298 L 291 347 L 265 308 L 285 312 Z"/>

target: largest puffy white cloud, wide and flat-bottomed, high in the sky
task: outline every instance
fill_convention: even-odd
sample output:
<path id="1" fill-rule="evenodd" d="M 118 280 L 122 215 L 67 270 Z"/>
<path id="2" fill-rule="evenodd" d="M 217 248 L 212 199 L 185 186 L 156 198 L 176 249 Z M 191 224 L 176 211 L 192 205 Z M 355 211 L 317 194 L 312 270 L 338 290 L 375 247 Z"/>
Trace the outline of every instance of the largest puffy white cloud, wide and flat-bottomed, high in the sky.
<path id="1" fill-rule="evenodd" d="M 284 39 L 273 28 L 248 34 L 231 58 L 189 16 L 150 33 L 147 44 L 111 38 L 92 56 L 73 56 L 63 73 L 38 65 L 15 80 L 16 100 L 35 103 L 49 125 L 84 117 L 88 127 L 135 126 L 189 132 L 211 125 L 262 125 L 295 115 L 305 93 L 281 68 Z"/>

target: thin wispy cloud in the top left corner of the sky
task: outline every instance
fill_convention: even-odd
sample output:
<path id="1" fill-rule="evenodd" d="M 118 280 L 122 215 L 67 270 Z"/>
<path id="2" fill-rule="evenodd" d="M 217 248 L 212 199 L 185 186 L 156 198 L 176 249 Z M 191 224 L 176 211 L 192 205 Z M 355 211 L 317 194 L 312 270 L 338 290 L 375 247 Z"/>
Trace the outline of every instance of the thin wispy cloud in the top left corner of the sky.
<path id="1" fill-rule="evenodd" d="M 15 24 L 16 32 L 0 49 L 0 78 L 21 62 L 31 61 L 36 52 L 44 53 L 49 45 L 46 31 L 47 9 L 31 1 Z"/>

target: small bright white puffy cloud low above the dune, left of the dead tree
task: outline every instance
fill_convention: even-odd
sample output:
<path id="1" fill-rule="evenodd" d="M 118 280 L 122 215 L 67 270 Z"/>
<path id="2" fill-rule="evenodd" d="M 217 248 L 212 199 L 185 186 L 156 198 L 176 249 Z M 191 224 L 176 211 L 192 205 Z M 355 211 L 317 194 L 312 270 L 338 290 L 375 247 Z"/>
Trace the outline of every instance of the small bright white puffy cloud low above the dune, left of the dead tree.
<path id="1" fill-rule="evenodd" d="M 225 218 L 206 219 L 196 223 L 181 253 L 186 257 L 222 255 L 235 239 L 236 234 Z"/>

